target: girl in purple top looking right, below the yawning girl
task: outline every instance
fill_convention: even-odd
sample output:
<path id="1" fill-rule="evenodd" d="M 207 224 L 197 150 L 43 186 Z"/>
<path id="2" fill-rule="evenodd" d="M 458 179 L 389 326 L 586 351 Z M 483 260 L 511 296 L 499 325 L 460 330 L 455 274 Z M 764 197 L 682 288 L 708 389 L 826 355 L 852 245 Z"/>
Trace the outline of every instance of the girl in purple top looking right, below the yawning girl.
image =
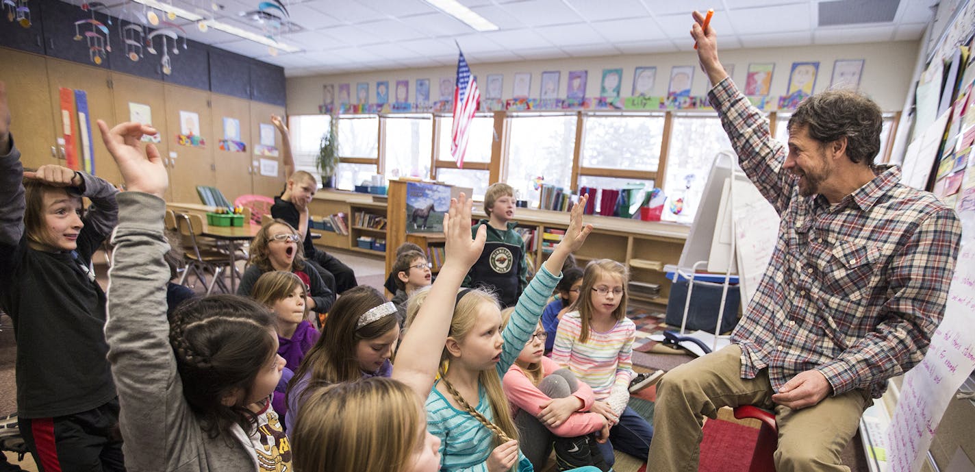
<path id="1" fill-rule="evenodd" d="M 305 354 L 318 342 L 322 334 L 307 320 L 305 285 L 292 272 L 284 270 L 265 272 L 257 279 L 251 295 L 275 316 L 278 355 L 285 360 L 285 371 L 274 389 L 271 403 L 274 411 L 284 417 L 287 423 L 288 403 L 285 402 L 285 393 L 288 382 Z"/>

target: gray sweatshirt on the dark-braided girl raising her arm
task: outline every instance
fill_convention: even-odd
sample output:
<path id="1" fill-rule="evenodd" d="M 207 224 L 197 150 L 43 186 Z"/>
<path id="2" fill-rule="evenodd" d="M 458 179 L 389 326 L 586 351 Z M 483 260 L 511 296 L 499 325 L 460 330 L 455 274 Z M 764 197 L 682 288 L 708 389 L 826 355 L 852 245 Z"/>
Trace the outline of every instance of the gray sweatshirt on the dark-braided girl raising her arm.
<path id="1" fill-rule="evenodd" d="M 120 193 L 117 201 L 105 337 L 122 407 L 126 469 L 256 470 L 256 452 L 244 430 L 234 425 L 232 437 L 211 439 L 183 397 L 166 318 L 166 202 L 138 192 Z"/>

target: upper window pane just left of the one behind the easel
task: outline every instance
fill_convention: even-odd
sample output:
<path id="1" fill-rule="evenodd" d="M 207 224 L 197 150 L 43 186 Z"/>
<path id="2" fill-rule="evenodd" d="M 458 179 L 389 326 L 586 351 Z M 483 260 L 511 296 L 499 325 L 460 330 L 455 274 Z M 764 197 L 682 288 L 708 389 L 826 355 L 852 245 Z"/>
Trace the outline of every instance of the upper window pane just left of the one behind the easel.
<path id="1" fill-rule="evenodd" d="M 656 172 L 664 116 L 590 115 L 584 136 L 582 167 Z"/>

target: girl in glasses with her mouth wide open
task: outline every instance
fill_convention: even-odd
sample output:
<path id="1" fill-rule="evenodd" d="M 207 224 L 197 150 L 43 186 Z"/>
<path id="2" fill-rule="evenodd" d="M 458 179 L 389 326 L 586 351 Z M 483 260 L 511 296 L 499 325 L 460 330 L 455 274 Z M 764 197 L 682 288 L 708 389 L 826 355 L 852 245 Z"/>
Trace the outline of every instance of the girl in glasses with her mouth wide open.
<path id="1" fill-rule="evenodd" d="M 329 312 L 335 295 L 325 286 L 318 271 L 305 262 L 300 241 L 298 232 L 283 219 L 274 219 L 263 225 L 251 241 L 251 266 L 241 276 L 237 295 L 250 296 L 257 279 L 265 272 L 292 272 L 304 282 L 307 294 L 305 305 L 311 312 L 319 314 L 312 315 L 312 319 L 321 327 L 321 315 Z"/>

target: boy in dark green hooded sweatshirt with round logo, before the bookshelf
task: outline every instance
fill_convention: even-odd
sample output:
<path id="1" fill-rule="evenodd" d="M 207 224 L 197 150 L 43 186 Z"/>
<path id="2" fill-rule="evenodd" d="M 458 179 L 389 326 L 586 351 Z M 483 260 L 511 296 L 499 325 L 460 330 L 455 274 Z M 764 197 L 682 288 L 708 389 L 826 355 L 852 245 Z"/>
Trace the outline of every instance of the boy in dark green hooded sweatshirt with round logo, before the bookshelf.
<path id="1" fill-rule="evenodd" d="M 497 182 L 485 192 L 485 213 L 471 227 L 477 235 L 478 227 L 487 225 L 487 243 L 481 258 L 474 263 L 464 287 L 485 287 L 493 290 L 501 304 L 514 306 L 525 290 L 528 273 L 525 240 L 515 232 L 515 189 L 507 183 Z"/>

